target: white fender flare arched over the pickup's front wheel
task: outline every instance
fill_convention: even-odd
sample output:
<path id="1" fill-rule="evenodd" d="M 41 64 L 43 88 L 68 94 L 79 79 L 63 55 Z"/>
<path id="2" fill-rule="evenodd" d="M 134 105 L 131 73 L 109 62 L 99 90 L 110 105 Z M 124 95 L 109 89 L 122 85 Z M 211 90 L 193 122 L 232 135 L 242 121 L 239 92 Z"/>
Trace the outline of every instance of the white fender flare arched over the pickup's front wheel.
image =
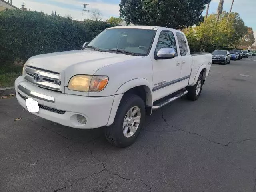
<path id="1" fill-rule="evenodd" d="M 153 102 L 152 102 L 152 87 L 150 86 L 150 83 L 148 82 L 148 80 L 144 79 L 144 78 L 136 78 L 136 79 L 132 79 L 128 82 L 125 82 L 124 84 L 122 84 L 117 90 L 115 94 L 123 94 L 125 92 L 127 92 L 128 90 L 137 87 L 137 86 L 143 86 L 146 92 L 146 98 L 147 98 L 147 102 L 146 105 L 147 106 L 152 106 Z"/>

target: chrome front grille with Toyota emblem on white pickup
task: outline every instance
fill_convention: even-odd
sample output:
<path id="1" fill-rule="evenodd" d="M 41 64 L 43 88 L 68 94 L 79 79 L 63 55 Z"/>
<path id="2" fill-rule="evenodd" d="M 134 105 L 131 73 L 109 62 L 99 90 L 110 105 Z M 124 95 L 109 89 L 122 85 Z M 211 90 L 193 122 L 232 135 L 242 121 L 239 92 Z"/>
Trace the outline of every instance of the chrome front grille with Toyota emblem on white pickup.
<path id="1" fill-rule="evenodd" d="M 57 92 L 62 91 L 60 74 L 53 71 L 26 66 L 24 71 L 24 79 L 45 89 L 54 90 Z"/>

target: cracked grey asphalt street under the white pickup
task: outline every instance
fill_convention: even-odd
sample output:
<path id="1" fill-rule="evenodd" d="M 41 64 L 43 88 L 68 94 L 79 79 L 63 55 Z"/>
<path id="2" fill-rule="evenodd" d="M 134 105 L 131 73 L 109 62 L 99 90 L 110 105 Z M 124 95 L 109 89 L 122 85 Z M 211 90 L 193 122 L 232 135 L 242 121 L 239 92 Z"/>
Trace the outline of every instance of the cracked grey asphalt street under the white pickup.
<path id="1" fill-rule="evenodd" d="M 154 111 L 128 148 L 103 130 L 0 99 L 0 191 L 256 192 L 256 56 L 212 65 L 199 100 Z"/>

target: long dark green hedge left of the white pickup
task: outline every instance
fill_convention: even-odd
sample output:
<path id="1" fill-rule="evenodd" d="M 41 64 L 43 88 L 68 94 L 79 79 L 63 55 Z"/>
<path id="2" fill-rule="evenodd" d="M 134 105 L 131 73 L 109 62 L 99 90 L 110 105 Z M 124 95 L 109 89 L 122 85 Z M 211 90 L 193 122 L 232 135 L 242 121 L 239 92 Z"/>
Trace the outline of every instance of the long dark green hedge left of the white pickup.
<path id="1" fill-rule="evenodd" d="M 1 11 L 0 73 L 9 72 L 13 63 L 17 66 L 34 55 L 80 49 L 84 42 L 112 26 L 106 22 L 80 24 L 42 12 Z"/>

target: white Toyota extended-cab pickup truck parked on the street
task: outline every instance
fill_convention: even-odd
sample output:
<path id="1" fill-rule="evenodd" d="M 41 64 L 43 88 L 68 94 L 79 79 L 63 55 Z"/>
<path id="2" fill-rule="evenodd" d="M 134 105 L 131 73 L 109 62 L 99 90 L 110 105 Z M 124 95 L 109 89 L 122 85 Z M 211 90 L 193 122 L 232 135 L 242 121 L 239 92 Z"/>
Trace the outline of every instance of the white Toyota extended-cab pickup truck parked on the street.
<path id="1" fill-rule="evenodd" d="M 28 98 L 37 101 L 35 115 L 74 128 L 104 127 L 111 144 L 126 147 L 152 110 L 184 95 L 197 100 L 211 64 L 210 53 L 190 52 L 179 30 L 118 26 L 82 50 L 31 57 L 15 90 L 24 108 Z"/>

